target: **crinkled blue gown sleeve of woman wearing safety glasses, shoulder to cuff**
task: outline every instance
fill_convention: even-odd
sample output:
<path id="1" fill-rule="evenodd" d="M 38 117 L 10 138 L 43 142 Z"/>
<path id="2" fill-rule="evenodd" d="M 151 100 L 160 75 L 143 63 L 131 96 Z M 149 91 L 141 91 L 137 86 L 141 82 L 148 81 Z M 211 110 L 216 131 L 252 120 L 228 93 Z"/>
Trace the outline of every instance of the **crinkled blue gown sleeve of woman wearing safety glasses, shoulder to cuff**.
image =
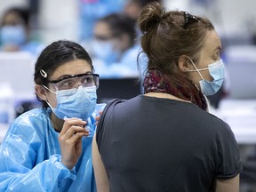
<path id="1" fill-rule="evenodd" d="M 40 150 L 45 139 L 39 139 L 35 124 L 24 122 L 28 119 L 12 124 L 0 145 L 0 191 L 68 191 L 76 167 L 68 170 L 59 153 L 45 156 Z"/>

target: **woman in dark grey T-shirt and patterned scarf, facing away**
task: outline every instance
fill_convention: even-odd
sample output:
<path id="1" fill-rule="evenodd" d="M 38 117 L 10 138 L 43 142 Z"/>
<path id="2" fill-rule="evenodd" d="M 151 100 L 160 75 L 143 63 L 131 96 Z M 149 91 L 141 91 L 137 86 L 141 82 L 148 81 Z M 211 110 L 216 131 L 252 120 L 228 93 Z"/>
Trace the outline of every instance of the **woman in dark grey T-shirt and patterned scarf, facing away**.
<path id="1" fill-rule="evenodd" d="M 100 116 L 92 140 L 97 190 L 238 192 L 234 133 L 204 97 L 224 79 L 211 21 L 148 4 L 138 23 L 148 55 L 144 94 L 112 100 Z"/>

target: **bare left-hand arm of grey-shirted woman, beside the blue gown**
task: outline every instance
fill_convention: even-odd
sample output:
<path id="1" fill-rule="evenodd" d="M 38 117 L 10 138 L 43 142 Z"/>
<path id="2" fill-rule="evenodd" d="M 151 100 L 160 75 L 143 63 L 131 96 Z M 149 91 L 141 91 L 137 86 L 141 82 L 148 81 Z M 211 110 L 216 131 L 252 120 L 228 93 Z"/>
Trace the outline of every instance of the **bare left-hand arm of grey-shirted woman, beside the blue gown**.
<path id="1" fill-rule="evenodd" d="M 92 164 L 95 174 L 97 191 L 108 192 L 109 191 L 109 180 L 108 174 L 106 172 L 105 166 L 101 160 L 100 152 L 96 142 L 96 133 L 92 140 Z"/>

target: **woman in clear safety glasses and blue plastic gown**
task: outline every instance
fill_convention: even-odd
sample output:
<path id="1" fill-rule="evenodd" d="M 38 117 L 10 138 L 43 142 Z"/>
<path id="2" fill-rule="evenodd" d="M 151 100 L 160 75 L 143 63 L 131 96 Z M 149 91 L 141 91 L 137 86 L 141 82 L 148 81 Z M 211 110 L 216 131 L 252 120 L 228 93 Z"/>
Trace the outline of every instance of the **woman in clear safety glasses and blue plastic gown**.
<path id="1" fill-rule="evenodd" d="M 0 146 L 0 191 L 95 191 L 99 75 L 93 70 L 90 55 L 75 42 L 53 42 L 39 55 L 34 80 L 43 108 L 10 125 Z"/>

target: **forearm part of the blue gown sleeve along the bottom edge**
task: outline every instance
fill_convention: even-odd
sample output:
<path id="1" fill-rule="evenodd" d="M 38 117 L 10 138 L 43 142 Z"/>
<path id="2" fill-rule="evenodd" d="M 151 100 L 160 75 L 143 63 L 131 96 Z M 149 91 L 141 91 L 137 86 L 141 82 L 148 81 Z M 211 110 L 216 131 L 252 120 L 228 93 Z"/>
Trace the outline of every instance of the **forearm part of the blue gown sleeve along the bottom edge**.
<path id="1" fill-rule="evenodd" d="M 33 169 L 13 162 L 17 167 L 14 172 L 0 172 L 0 191 L 67 191 L 72 180 L 76 180 L 76 172 L 69 171 L 61 164 L 60 155 L 36 164 Z M 12 168 L 13 169 L 13 168 Z"/>

